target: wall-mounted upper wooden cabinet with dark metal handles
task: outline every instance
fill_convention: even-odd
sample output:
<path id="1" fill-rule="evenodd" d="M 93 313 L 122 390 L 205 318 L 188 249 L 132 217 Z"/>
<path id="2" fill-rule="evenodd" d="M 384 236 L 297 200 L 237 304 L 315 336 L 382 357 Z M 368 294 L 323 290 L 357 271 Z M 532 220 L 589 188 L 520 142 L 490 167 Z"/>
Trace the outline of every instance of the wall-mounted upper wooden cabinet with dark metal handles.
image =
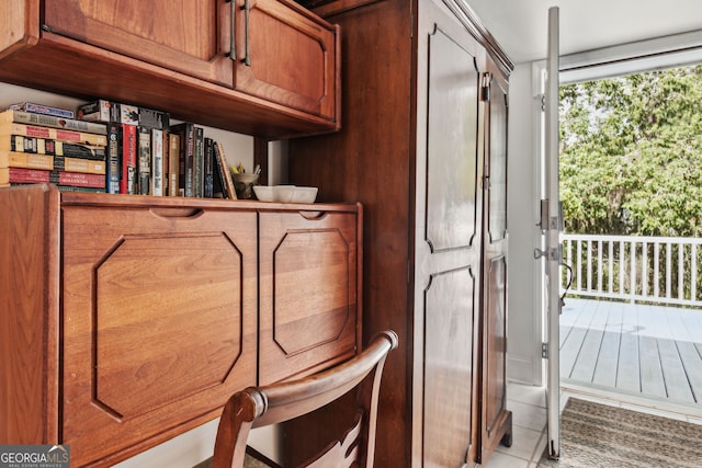
<path id="1" fill-rule="evenodd" d="M 267 138 L 340 127 L 340 30 L 292 0 L 10 0 L 0 80 Z"/>

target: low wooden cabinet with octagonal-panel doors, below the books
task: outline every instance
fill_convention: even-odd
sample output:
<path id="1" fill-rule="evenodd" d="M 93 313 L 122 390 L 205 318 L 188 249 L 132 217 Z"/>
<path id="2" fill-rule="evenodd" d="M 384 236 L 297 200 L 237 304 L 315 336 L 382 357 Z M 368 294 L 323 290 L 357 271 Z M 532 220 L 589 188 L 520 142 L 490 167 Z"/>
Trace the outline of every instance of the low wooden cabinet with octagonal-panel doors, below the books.
<path id="1" fill-rule="evenodd" d="M 358 350 L 358 205 L 34 185 L 0 213 L 0 444 L 107 466 Z"/>

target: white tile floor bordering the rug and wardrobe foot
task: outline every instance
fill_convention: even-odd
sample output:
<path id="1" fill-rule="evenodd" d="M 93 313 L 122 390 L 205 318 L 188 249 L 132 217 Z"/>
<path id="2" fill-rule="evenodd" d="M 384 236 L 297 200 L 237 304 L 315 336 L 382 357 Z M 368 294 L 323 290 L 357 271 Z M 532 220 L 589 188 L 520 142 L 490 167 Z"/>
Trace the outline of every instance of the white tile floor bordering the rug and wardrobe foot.
<path id="1" fill-rule="evenodd" d="M 666 403 L 652 407 L 650 401 L 638 401 L 632 398 L 627 398 L 627 401 L 620 401 L 615 395 L 577 387 L 562 388 L 562 409 L 570 396 L 702 424 L 702 414 L 697 414 L 694 411 L 689 414 L 690 409 L 681 409 Z M 508 448 L 499 445 L 484 467 L 536 468 L 546 447 L 547 438 L 545 389 L 509 383 L 507 386 L 507 408 L 512 411 L 512 446 Z"/>

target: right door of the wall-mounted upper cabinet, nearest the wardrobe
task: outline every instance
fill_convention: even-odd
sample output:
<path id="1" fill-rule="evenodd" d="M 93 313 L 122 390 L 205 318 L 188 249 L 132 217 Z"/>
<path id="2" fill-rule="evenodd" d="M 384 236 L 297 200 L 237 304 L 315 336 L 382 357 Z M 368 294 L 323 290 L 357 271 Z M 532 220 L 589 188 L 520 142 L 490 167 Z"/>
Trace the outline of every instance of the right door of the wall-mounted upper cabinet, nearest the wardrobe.
<path id="1" fill-rule="evenodd" d="M 286 0 L 237 0 L 235 88 L 336 118 L 339 28 Z"/>

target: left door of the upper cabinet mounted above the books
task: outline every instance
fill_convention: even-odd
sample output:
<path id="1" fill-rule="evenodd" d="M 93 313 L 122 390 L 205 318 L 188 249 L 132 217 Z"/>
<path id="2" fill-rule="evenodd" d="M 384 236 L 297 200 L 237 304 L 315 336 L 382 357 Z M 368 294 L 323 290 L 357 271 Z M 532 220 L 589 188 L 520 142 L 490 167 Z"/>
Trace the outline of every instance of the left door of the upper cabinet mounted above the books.
<path id="1" fill-rule="evenodd" d="M 46 0 L 57 34 L 195 78 L 233 85 L 226 0 Z"/>

